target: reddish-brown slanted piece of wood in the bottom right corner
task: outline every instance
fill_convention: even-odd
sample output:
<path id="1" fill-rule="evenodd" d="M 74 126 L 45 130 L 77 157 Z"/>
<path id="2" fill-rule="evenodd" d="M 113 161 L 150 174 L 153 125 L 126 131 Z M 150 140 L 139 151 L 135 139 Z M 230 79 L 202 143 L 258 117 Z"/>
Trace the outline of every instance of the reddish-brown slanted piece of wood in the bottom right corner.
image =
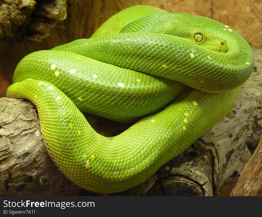
<path id="1" fill-rule="evenodd" d="M 244 167 L 230 196 L 262 196 L 262 139 Z"/>

